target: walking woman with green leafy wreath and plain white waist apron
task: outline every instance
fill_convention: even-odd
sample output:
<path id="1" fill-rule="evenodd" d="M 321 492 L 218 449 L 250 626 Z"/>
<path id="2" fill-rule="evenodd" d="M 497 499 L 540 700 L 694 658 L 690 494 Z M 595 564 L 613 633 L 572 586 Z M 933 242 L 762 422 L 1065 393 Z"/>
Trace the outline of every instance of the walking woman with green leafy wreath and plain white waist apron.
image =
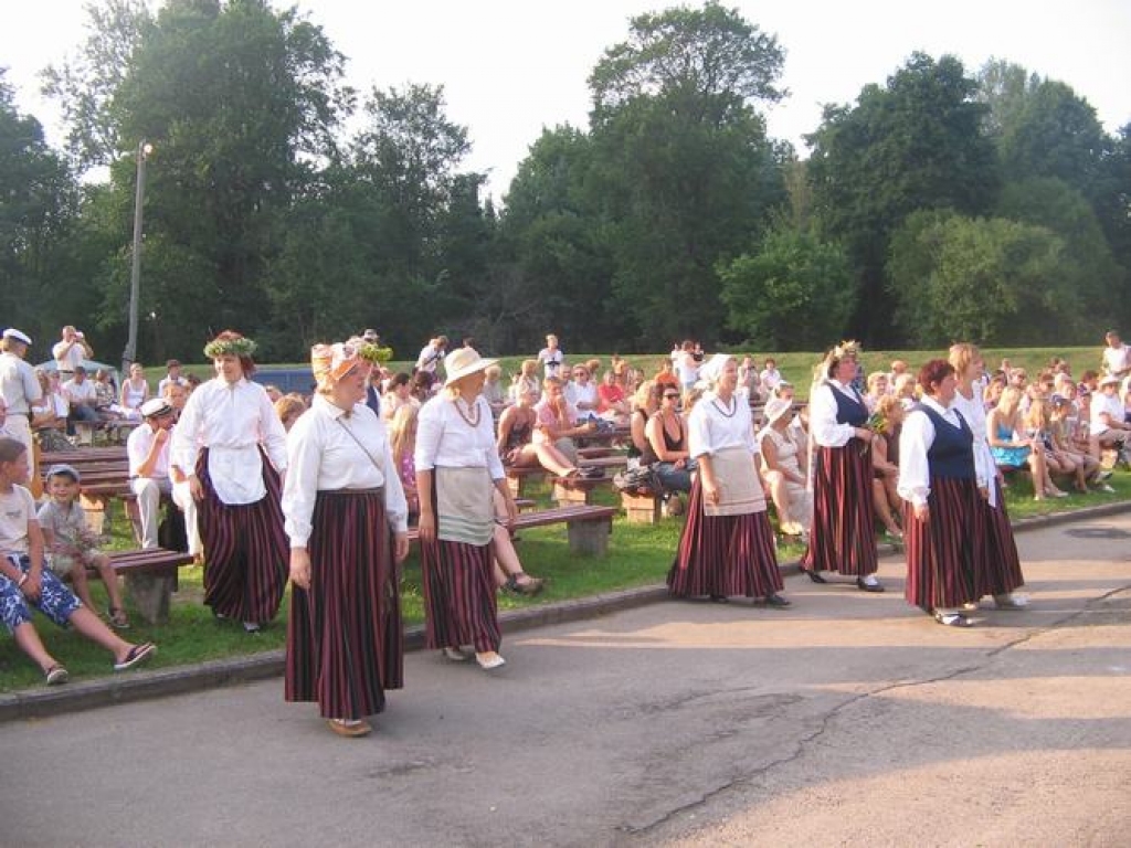
<path id="1" fill-rule="evenodd" d="M 205 548 L 205 604 L 254 633 L 275 617 L 290 552 L 279 507 L 286 432 L 248 378 L 256 343 L 225 330 L 205 346 L 216 377 L 201 383 L 173 431 L 172 461 L 192 469 Z"/>

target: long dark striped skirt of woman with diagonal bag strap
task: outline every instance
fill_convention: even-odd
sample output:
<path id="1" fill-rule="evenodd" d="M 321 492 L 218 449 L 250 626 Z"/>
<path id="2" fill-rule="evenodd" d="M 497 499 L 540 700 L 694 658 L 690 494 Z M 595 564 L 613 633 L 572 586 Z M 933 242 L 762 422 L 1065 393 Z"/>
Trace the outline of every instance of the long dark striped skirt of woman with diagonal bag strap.
<path id="1" fill-rule="evenodd" d="M 379 492 L 319 492 L 310 589 L 292 587 L 285 695 L 318 701 L 323 718 L 385 709 L 404 685 L 400 591 Z"/>

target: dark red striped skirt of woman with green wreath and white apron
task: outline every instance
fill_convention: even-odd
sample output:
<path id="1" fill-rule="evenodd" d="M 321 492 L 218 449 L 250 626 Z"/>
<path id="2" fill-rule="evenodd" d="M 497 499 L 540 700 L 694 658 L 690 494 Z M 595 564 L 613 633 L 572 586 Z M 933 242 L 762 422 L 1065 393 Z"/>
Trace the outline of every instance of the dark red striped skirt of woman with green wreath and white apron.
<path id="1" fill-rule="evenodd" d="M 197 478 L 205 490 L 197 510 L 205 548 L 205 604 L 230 618 L 265 624 L 276 616 L 286 587 L 291 545 L 283 529 L 279 475 L 260 449 L 267 494 L 256 503 L 226 504 L 208 476 L 208 449 Z"/>

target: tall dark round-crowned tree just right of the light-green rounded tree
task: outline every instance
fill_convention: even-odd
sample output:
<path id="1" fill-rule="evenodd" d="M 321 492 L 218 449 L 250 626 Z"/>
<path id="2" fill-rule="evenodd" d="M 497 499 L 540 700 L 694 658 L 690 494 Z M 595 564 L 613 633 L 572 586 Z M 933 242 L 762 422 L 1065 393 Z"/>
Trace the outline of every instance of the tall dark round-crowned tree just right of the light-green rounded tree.
<path id="1" fill-rule="evenodd" d="M 818 215 L 858 269 L 853 326 L 873 346 L 897 340 L 884 296 L 891 233 L 918 209 L 977 215 L 995 197 L 986 106 L 975 92 L 958 59 L 915 53 L 887 87 L 865 86 L 854 107 L 827 106 L 809 137 Z"/>

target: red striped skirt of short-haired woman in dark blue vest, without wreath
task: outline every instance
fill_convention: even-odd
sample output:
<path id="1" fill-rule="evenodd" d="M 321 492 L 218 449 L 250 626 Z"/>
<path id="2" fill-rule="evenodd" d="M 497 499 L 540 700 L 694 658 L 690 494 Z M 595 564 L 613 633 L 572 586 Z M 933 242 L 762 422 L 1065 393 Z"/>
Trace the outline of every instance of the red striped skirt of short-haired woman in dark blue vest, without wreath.
<path id="1" fill-rule="evenodd" d="M 973 479 L 931 481 L 927 521 L 904 503 L 907 602 L 923 609 L 953 608 L 977 599 L 975 550 L 981 540 L 982 495 Z"/>

